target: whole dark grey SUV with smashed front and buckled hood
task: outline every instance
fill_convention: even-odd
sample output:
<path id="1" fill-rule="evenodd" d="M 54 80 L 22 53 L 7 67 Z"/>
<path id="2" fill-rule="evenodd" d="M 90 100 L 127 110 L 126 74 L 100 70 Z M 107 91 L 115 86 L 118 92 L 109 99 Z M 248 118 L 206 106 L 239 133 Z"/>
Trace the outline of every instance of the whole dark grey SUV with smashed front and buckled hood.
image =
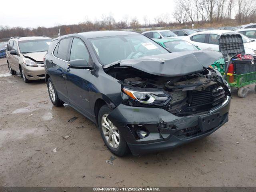
<path id="1" fill-rule="evenodd" d="M 44 58 L 50 100 L 96 123 L 117 156 L 208 136 L 228 121 L 230 89 L 212 51 L 170 53 L 134 32 L 85 32 L 52 40 Z"/>

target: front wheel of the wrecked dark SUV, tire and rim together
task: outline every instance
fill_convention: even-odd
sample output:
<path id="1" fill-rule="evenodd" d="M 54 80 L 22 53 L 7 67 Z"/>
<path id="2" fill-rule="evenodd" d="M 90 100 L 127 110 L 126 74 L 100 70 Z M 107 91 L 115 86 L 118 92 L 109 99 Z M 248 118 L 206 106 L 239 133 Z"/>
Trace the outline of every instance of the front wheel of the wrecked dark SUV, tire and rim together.
<path id="1" fill-rule="evenodd" d="M 128 154 L 129 148 L 118 128 L 107 119 L 111 111 L 112 110 L 107 105 L 100 108 L 98 113 L 98 126 L 100 129 L 100 134 L 104 143 L 108 147 L 108 150 L 110 150 L 116 156 L 124 156 Z"/>

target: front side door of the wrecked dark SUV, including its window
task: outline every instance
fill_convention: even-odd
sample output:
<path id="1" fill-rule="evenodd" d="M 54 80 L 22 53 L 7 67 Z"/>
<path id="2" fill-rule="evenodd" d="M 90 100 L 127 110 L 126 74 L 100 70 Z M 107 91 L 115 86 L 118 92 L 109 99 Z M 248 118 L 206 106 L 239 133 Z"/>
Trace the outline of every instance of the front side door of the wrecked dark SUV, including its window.
<path id="1" fill-rule="evenodd" d="M 73 38 L 70 48 L 70 60 L 76 59 L 85 59 L 88 64 L 90 63 L 90 54 L 80 38 Z M 70 68 L 66 78 L 70 104 L 86 116 L 92 115 L 90 110 L 91 77 L 90 70 Z"/>

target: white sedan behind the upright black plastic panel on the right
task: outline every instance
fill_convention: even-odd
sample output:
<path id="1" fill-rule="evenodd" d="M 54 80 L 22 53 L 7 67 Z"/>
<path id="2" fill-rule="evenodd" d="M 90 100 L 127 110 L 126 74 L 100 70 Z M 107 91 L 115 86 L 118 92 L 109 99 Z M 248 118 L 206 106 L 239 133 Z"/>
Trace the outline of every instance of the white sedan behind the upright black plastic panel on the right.
<path id="1" fill-rule="evenodd" d="M 201 50 L 215 50 L 219 51 L 218 38 L 221 34 L 226 33 L 237 33 L 234 31 L 228 30 L 213 30 L 213 31 L 204 31 L 192 34 L 190 36 L 184 36 L 182 39 L 186 40 L 196 46 Z M 244 49 L 246 54 L 256 54 L 256 42 L 250 40 L 248 37 L 241 34 L 244 42 Z"/>

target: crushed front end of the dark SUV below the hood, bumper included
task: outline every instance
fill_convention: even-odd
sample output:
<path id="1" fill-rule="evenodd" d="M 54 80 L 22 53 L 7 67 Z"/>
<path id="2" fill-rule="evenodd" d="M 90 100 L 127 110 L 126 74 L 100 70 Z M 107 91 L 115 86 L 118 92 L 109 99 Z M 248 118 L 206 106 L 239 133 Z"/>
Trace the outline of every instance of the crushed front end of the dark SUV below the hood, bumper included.
<path id="1" fill-rule="evenodd" d="M 230 87 L 212 68 L 183 76 L 153 75 L 130 66 L 107 73 L 122 84 L 123 100 L 108 118 L 134 155 L 191 142 L 228 121 Z"/>

